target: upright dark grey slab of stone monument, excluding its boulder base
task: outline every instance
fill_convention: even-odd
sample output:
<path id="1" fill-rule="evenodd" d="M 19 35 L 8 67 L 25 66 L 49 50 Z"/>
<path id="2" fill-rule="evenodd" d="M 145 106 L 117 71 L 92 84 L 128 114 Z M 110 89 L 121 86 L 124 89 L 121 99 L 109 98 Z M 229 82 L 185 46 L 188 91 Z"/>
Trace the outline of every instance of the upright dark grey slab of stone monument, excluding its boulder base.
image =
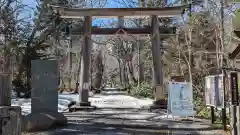
<path id="1" fill-rule="evenodd" d="M 56 60 L 31 61 L 31 112 L 58 111 L 58 64 Z"/>

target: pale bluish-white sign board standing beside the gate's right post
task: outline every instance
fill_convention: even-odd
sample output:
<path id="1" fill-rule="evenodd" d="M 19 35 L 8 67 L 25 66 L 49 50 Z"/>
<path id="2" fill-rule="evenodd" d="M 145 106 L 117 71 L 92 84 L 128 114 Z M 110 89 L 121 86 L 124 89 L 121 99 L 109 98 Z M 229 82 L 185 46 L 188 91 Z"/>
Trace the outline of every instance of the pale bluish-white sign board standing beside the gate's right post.
<path id="1" fill-rule="evenodd" d="M 169 82 L 168 88 L 168 112 L 174 116 L 194 116 L 191 83 Z"/>

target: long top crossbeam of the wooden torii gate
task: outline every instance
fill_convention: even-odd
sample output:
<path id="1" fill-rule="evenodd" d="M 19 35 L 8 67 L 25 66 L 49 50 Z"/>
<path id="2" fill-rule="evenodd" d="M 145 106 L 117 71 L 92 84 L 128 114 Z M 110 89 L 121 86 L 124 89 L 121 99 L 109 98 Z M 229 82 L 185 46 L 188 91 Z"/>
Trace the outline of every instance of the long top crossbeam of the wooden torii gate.
<path id="1" fill-rule="evenodd" d="M 173 17 L 182 13 L 184 6 L 164 7 L 164 8 L 65 8 L 51 6 L 55 12 L 60 13 L 62 18 L 83 18 L 93 16 L 100 18 L 110 18 L 124 16 L 126 18 L 137 18 L 156 15 L 160 17 Z"/>

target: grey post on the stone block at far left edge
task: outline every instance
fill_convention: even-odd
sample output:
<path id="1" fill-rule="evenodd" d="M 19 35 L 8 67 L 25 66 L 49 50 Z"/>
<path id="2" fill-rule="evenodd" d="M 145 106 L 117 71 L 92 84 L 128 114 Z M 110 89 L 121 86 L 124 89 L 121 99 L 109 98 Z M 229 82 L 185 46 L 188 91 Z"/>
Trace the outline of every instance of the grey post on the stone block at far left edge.
<path id="1" fill-rule="evenodd" d="M 11 73 L 0 73 L 0 106 L 11 106 Z"/>

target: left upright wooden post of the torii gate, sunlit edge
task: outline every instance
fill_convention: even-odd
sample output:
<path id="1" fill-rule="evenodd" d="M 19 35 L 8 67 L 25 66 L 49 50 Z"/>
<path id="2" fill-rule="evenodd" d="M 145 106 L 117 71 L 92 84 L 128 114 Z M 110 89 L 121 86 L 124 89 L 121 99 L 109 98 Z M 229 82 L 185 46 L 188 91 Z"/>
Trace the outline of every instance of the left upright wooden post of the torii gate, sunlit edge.
<path id="1" fill-rule="evenodd" d="M 90 68 L 90 57 L 92 49 L 91 41 L 91 27 L 92 27 L 92 17 L 84 17 L 84 44 L 82 46 L 81 53 L 81 74 L 80 74 L 80 89 L 79 89 L 79 101 L 80 106 L 91 106 L 88 101 L 89 98 L 89 68 Z"/>

